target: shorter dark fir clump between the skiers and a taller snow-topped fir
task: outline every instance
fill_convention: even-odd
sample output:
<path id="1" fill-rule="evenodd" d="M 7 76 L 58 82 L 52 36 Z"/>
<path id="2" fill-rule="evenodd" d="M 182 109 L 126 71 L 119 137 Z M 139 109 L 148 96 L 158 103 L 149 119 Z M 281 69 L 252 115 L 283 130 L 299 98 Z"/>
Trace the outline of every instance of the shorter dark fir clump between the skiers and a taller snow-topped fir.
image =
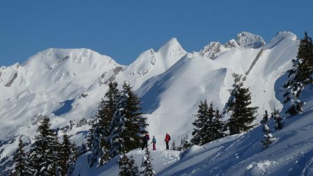
<path id="1" fill-rule="evenodd" d="M 195 122 L 193 122 L 193 138 L 191 142 L 195 145 L 204 145 L 210 141 L 214 141 L 223 137 L 223 122 L 220 121 L 218 109 L 213 109 L 213 103 L 208 106 L 207 101 L 200 102 L 198 114 L 195 115 Z"/>

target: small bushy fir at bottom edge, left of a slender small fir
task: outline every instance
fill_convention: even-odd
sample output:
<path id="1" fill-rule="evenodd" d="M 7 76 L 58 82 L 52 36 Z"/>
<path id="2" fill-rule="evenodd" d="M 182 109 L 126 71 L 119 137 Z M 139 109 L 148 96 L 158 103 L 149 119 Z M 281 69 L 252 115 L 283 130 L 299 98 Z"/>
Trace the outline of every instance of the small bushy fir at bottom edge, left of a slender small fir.
<path id="1" fill-rule="evenodd" d="M 138 176 L 139 170 L 138 166 L 134 161 L 133 156 L 127 157 L 126 153 L 123 151 L 118 160 L 118 167 L 120 168 L 119 176 Z"/>

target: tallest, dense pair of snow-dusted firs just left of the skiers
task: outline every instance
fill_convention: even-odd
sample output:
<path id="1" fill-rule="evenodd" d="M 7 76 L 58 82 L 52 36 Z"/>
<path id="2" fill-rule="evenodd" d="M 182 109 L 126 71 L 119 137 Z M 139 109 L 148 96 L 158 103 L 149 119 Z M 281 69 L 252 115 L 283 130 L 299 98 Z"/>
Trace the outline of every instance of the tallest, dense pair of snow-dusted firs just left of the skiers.
<path id="1" fill-rule="evenodd" d="M 109 90 L 99 103 L 96 121 L 88 134 L 88 161 L 90 167 L 102 166 L 118 154 L 127 153 L 141 146 L 146 134 L 146 118 L 141 112 L 141 102 L 131 86 L 109 83 Z"/>

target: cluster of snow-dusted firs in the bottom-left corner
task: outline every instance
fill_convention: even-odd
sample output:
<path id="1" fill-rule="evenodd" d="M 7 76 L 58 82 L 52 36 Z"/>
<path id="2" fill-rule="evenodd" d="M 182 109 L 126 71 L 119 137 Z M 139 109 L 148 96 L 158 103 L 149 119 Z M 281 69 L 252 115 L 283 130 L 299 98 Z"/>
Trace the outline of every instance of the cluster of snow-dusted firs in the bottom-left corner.
<path id="1" fill-rule="evenodd" d="M 67 134 L 63 142 L 50 129 L 49 118 L 44 117 L 38 126 L 38 136 L 29 152 L 24 151 L 24 143 L 19 138 L 19 146 L 14 156 L 15 170 L 13 175 L 71 175 L 77 157 L 77 147 L 70 143 Z"/>

